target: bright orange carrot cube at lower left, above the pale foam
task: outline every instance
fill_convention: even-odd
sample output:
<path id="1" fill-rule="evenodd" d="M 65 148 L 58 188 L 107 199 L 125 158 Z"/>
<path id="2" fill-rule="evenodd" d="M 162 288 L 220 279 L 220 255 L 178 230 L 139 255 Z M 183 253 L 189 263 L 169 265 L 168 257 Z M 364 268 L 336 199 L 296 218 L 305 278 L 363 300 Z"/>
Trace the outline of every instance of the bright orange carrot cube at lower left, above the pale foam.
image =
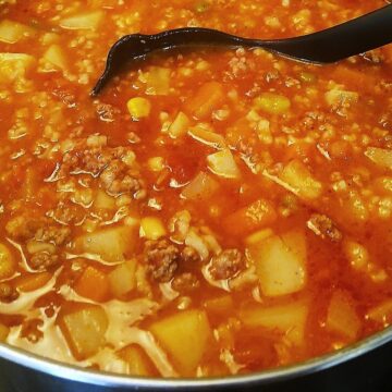
<path id="1" fill-rule="evenodd" d="M 89 266 L 76 281 L 74 290 L 86 298 L 102 302 L 109 295 L 109 280 L 106 273 Z"/>

